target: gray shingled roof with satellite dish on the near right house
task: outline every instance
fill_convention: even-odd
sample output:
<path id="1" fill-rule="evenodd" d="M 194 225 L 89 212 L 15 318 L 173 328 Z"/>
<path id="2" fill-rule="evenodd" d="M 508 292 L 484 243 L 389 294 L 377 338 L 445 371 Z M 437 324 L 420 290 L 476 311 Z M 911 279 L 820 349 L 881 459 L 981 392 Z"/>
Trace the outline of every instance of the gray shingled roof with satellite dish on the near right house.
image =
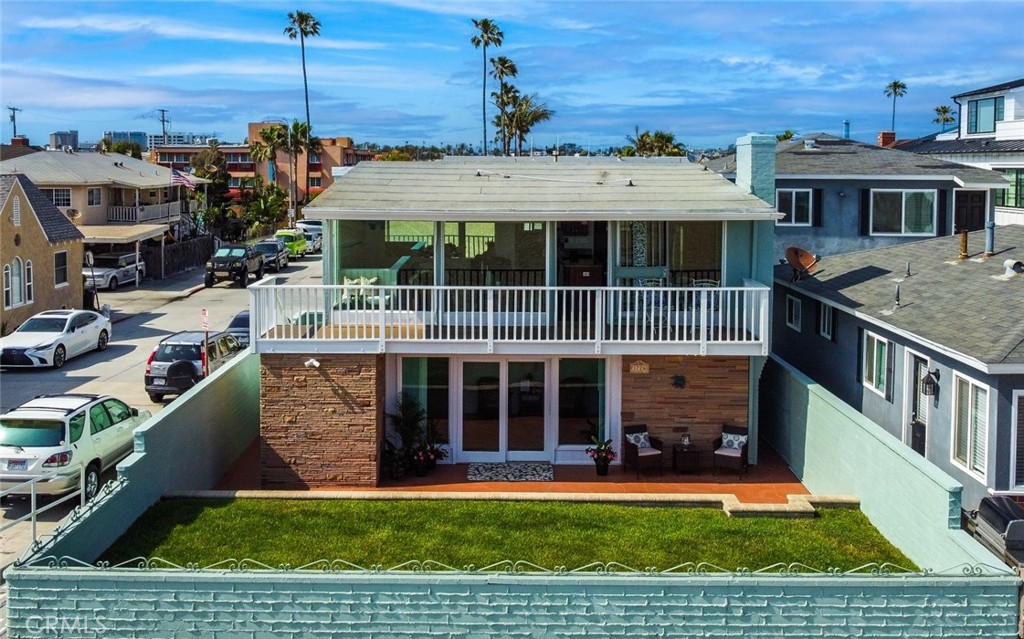
<path id="1" fill-rule="evenodd" d="M 824 256 L 799 282 L 788 265 L 776 266 L 775 283 L 984 365 L 1024 365 L 1024 274 L 1007 275 L 1004 266 L 1024 260 L 1024 226 L 996 227 L 991 257 L 984 246 L 985 232 L 976 231 L 963 261 L 959 236 Z"/>

